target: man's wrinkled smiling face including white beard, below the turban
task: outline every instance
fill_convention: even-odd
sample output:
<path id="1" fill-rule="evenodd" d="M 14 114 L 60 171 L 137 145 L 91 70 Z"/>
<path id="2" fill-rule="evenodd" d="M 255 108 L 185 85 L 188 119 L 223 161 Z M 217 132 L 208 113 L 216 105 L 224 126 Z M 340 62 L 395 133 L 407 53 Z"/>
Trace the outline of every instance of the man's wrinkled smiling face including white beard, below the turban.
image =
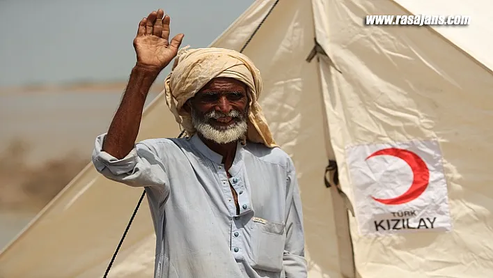
<path id="1" fill-rule="evenodd" d="M 189 101 L 194 128 L 219 144 L 246 133 L 249 98 L 246 85 L 233 78 L 215 78 Z"/>

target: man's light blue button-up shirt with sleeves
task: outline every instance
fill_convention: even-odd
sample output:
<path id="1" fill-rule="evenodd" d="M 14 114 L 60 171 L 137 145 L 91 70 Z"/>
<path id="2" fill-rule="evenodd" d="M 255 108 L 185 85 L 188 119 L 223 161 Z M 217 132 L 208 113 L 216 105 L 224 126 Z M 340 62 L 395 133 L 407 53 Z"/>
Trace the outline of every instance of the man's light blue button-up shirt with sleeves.
<path id="1" fill-rule="evenodd" d="M 295 167 L 281 148 L 238 143 L 228 178 L 222 156 L 196 135 L 141 141 L 122 160 L 102 151 L 105 137 L 95 142 L 97 171 L 146 188 L 156 278 L 307 276 Z"/>

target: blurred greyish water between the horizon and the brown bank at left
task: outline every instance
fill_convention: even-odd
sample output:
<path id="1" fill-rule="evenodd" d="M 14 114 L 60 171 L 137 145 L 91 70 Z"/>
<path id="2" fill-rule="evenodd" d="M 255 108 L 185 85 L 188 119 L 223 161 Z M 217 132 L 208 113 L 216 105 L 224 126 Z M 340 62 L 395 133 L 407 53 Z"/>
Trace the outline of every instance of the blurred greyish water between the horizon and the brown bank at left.
<path id="1" fill-rule="evenodd" d="M 14 140 L 29 144 L 29 162 L 75 152 L 91 157 L 106 132 L 122 91 L 68 91 L 0 95 L 0 152 Z M 146 105 L 157 96 L 150 93 Z"/>

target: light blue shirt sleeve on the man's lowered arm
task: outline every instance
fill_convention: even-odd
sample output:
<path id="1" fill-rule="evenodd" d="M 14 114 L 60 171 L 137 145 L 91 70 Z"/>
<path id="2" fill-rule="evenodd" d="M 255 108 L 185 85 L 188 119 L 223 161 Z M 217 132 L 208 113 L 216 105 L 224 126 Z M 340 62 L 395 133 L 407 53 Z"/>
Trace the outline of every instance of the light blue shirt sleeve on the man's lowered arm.
<path id="1" fill-rule="evenodd" d="M 286 213 L 286 242 L 283 265 L 286 278 L 307 277 L 305 240 L 303 229 L 302 199 L 299 195 L 295 167 L 290 160 L 288 167 L 288 194 Z"/>

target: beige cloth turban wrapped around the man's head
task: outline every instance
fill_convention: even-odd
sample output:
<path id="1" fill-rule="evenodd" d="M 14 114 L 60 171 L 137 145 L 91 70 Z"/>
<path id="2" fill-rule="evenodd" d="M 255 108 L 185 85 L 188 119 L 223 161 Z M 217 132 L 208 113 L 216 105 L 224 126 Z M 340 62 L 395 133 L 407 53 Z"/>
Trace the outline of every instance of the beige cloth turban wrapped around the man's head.
<path id="1" fill-rule="evenodd" d="M 223 48 L 180 49 L 173 70 L 164 81 L 166 104 L 187 136 L 195 134 L 196 130 L 191 123 L 191 115 L 182 107 L 216 77 L 231 77 L 248 87 L 250 105 L 246 139 L 269 148 L 277 146 L 258 104 L 262 91 L 259 70 L 245 55 Z"/>

